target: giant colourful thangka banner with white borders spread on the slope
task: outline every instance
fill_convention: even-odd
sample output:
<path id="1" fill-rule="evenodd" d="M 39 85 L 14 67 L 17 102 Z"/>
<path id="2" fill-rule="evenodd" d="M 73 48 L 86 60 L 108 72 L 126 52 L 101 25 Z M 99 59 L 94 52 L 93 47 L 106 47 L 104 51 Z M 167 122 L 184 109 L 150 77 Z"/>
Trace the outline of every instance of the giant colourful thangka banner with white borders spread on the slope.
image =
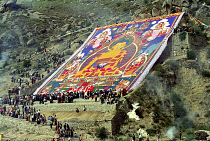
<path id="1" fill-rule="evenodd" d="M 135 89 L 167 45 L 183 13 L 94 29 L 34 94 Z"/>

